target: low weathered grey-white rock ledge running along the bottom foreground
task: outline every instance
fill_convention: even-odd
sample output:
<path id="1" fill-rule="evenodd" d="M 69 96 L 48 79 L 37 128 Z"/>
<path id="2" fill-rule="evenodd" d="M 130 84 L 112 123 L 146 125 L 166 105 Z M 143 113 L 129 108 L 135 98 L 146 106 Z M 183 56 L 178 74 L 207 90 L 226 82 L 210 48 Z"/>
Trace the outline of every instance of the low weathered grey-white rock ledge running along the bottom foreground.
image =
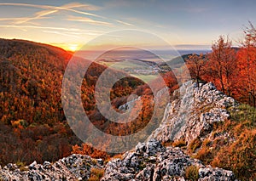
<path id="1" fill-rule="evenodd" d="M 0 180 L 88 180 L 92 168 L 102 169 L 102 181 L 125 180 L 187 180 L 189 167 L 195 167 L 198 180 L 235 180 L 231 171 L 205 166 L 185 155 L 180 148 L 165 148 L 154 139 L 139 143 L 133 151 L 103 165 L 102 159 L 72 155 L 55 163 L 35 161 L 26 167 L 9 163 L 0 169 Z"/>

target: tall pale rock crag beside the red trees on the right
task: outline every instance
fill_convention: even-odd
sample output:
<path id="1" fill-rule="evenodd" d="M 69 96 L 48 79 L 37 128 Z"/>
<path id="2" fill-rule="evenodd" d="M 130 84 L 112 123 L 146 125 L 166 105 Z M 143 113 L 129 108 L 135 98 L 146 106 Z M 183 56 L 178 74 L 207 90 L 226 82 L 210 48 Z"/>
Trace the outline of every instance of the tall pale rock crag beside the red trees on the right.
<path id="1" fill-rule="evenodd" d="M 160 127 L 149 139 L 161 142 L 184 138 L 189 144 L 198 136 L 210 133 L 214 122 L 223 122 L 230 117 L 227 110 L 235 109 L 235 99 L 218 91 L 212 82 L 200 84 L 186 82 L 173 93 L 175 98 L 166 106 Z"/>

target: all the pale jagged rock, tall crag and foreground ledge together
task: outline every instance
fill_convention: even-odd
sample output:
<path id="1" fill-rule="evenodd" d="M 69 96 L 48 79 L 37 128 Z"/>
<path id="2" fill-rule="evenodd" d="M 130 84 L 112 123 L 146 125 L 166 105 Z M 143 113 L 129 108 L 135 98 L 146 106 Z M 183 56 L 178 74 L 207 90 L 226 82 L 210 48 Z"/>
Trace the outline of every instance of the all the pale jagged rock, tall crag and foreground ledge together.
<path id="1" fill-rule="evenodd" d="M 210 138 L 215 122 L 229 119 L 228 110 L 236 109 L 236 101 L 219 92 L 210 82 L 196 87 L 193 82 L 183 84 L 166 106 L 160 127 L 146 143 L 137 144 L 119 159 L 108 161 L 90 156 L 72 155 L 55 163 L 43 165 L 33 162 L 27 167 L 8 164 L 0 168 L 0 180 L 87 180 L 92 168 L 104 169 L 107 180 L 235 180 L 231 171 L 205 166 L 177 147 L 164 147 L 161 142 L 183 139 Z M 218 135 L 230 139 L 229 135 Z M 192 169 L 192 171 L 189 169 Z M 189 176 L 190 174 L 190 176 Z"/>

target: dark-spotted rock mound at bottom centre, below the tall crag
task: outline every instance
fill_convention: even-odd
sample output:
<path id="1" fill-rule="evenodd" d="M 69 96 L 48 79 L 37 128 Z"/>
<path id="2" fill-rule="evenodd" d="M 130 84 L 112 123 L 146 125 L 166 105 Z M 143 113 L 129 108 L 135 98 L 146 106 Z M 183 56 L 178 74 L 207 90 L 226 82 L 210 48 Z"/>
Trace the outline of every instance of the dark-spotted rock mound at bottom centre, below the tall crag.
<path id="1" fill-rule="evenodd" d="M 149 151 L 150 150 L 150 151 Z M 185 155 L 180 148 L 164 148 L 159 141 L 137 144 L 122 159 L 109 161 L 102 181 L 107 180 L 185 180 L 189 166 L 199 167 L 201 180 L 235 180 L 231 171 L 204 166 L 201 161 Z"/>

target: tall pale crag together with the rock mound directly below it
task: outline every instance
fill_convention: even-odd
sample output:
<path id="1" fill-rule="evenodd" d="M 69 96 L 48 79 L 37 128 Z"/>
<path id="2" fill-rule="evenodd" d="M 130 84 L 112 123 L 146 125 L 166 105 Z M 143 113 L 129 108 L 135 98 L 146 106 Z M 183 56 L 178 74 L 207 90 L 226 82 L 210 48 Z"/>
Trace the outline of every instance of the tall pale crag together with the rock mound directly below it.
<path id="1" fill-rule="evenodd" d="M 229 110 L 236 107 L 235 99 L 218 91 L 212 82 L 199 88 L 195 82 L 184 83 L 173 93 L 173 101 L 166 106 L 160 127 L 148 142 L 138 144 L 122 159 L 108 162 L 102 180 L 185 180 L 191 166 L 198 168 L 198 180 L 235 180 L 231 171 L 205 166 L 180 148 L 164 148 L 160 142 L 183 139 L 185 144 L 190 144 L 195 139 L 210 138 L 214 124 L 228 120 Z M 215 137 L 231 139 L 226 134 Z"/>

